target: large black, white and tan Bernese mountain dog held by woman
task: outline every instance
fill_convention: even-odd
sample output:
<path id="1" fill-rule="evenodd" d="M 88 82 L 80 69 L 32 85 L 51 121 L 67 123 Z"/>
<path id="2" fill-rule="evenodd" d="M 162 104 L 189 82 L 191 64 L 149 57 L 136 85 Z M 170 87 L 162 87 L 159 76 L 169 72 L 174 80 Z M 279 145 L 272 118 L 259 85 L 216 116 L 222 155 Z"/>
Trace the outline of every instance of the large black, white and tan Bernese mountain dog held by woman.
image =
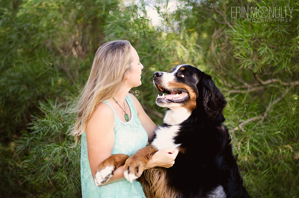
<path id="1" fill-rule="evenodd" d="M 227 102 L 211 76 L 185 64 L 155 72 L 153 81 L 163 93 L 156 104 L 167 108 L 164 124 L 151 144 L 131 157 L 116 154 L 100 163 L 96 184 L 105 184 L 125 164 L 125 178 L 138 179 L 147 198 L 249 198 L 222 125 Z M 155 152 L 168 147 L 179 150 L 172 167 L 145 169 Z"/>

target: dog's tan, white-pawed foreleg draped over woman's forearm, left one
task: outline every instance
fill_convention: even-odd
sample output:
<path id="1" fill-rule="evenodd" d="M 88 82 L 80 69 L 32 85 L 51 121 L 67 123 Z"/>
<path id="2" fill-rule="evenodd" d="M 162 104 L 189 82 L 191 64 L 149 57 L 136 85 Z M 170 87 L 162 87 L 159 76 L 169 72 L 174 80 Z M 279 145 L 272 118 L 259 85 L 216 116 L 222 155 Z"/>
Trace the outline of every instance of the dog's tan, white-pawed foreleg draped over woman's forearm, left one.
<path id="1" fill-rule="evenodd" d="M 97 166 L 94 182 L 97 186 L 106 184 L 113 176 L 113 172 L 120 166 L 124 165 L 129 156 L 125 154 L 111 155 Z"/>

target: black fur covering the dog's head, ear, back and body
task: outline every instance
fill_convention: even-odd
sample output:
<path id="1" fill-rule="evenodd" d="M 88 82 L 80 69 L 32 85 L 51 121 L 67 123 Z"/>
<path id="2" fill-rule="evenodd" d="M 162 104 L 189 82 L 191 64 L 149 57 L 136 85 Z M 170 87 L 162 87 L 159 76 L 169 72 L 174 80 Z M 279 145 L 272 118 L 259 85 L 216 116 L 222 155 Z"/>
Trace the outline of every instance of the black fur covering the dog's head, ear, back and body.
<path id="1" fill-rule="evenodd" d="M 173 69 L 185 76 L 179 78 L 176 75 L 176 81 L 186 84 L 196 93 L 196 108 L 180 124 L 174 138 L 174 143 L 180 144 L 180 152 L 173 167 L 165 168 L 168 185 L 182 192 L 183 197 L 206 197 L 221 185 L 227 198 L 248 198 L 232 152 L 229 132 L 222 125 L 226 100 L 210 75 L 190 65 L 183 67 L 183 71 Z M 154 82 L 155 78 L 154 74 Z"/>

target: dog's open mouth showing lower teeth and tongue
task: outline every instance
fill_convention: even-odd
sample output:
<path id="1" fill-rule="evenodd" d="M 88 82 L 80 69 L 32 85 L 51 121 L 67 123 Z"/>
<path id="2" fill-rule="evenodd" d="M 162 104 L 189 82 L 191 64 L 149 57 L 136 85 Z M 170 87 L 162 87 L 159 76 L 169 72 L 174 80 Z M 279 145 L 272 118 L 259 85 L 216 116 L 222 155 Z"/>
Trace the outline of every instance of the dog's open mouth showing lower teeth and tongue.
<path id="1" fill-rule="evenodd" d="M 157 101 L 161 102 L 183 102 L 188 99 L 189 93 L 185 89 L 168 90 L 159 84 L 156 84 L 157 89 L 162 92 L 162 96 L 158 94 Z"/>

